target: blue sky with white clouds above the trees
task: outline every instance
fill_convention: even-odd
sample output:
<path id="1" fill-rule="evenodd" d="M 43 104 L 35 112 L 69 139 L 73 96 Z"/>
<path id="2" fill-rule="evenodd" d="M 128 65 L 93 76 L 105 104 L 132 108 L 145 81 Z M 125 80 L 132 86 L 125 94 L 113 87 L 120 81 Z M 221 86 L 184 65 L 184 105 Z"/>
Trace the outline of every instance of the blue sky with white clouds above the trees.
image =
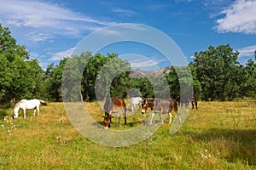
<path id="1" fill-rule="evenodd" d="M 229 43 L 240 52 L 241 64 L 253 59 L 256 50 L 256 0 L 0 0 L 0 23 L 9 27 L 17 43 L 24 45 L 44 69 L 72 54 L 91 32 L 123 23 L 163 31 L 188 61 L 210 45 Z M 147 57 L 152 62 L 144 62 L 142 57 L 136 61 L 137 67 L 152 63 L 165 66 L 158 52 L 134 43 L 109 46 L 100 52 L 125 57 L 125 53 L 132 53 L 135 58 L 151 54 Z"/>

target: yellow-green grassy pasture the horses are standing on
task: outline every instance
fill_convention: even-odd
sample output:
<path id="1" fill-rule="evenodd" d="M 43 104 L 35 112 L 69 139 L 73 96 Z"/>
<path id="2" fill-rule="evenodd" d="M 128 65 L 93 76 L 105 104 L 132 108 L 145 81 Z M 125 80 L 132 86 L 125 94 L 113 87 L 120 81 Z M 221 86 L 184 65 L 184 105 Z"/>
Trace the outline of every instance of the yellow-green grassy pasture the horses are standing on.
<path id="1" fill-rule="evenodd" d="M 103 126 L 98 104 L 84 105 Z M 62 103 L 40 108 L 40 116 L 27 111 L 26 119 L 5 117 L 0 121 L 0 169 L 255 169 L 256 100 L 198 105 L 177 133 L 169 134 L 166 117 L 149 139 L 124 148 L 85 139 Z M 11 114 L 11 109 L 1 112 Z M 113 117 L 112 128 L 136 127 L 149 112 L 127 111 L 127 124 L 121 119 L 119 127 Z"/>

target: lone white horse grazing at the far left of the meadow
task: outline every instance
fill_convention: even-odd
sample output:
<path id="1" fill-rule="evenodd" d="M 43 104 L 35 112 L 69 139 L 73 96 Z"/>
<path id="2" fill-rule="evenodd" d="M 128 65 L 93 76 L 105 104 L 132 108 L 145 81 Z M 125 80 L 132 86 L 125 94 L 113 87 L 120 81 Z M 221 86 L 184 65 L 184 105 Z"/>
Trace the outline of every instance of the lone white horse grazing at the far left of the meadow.
<path id="1" fill-rule="evenodd" d="M 47 105 L 44 100 L 41 99 L 21 99 L 19 103 L 15 105 L 15 109 L 13 111 L 14 113 L 14 119 L 16 119 L 19 115 L 18 111 L 20 109 L 23 110 L 24 113 L 24 119 L 26 118 L 26 109 L 27 110 L 34 110 L 34 116 L 36 115 L 36 111 L 38 110 L 39 115 L 39 105 Z"/>

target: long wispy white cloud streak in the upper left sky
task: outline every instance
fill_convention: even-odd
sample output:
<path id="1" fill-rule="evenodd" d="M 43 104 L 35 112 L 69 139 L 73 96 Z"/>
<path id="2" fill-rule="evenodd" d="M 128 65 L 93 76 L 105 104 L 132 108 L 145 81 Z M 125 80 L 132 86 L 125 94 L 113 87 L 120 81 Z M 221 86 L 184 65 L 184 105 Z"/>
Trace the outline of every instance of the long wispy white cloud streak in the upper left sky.
<path id="1" fill-rule="evenodd" d="M 0 18 L 8 26 L 32 30 L 34 41 L 45 41 L 56 34 L 79 35 L 81 31 L 95 31 L 115 24 L 92 19 L 60 4 L 30 0 L 0 0 Z"/>

